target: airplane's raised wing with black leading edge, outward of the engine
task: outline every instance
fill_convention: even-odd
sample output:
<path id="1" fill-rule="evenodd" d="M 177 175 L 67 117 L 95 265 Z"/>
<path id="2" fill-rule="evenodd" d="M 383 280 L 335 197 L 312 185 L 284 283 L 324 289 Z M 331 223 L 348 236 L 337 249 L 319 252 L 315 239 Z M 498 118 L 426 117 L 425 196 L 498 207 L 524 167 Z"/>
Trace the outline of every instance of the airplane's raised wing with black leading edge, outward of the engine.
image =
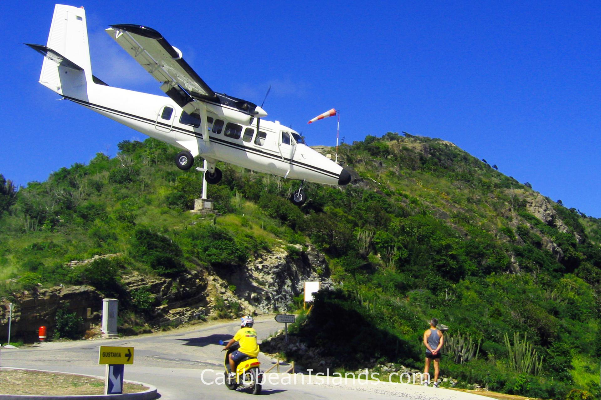
<path id="1" fill-rule="evenodd" d="M 161 89 L 178 106 L 183 107 L 194 99 L 217 100 L 215 92 L 182 58 L 182 52 L 159 32 L 146 26 L 120 24 L 111 25 L 106 33 L 154 79 L 163 83 Z"/>

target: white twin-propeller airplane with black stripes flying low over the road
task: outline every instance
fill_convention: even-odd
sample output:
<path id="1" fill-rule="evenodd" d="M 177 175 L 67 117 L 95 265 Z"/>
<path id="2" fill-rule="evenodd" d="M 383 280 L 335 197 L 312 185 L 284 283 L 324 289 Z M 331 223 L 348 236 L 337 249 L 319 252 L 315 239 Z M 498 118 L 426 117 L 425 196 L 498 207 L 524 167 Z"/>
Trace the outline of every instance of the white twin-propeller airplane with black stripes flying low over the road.
<path id="1" fill-rule="evenodd" d="M 205 179 L 221 180 L 217 161 L 302 181 L 291 201 L 303 204 L 304 182 L 346 185 L 350 173 L 309 148 L 278 121 L 261 121 L 257 104 L 214 92 L 154 29 L 112 25 L 106 29 L 162 85 L 168 97 L 108 86 L 92 74 L 84 8 L 56 4 L 46 46 L 27 44 L 45 56 L 40 83 L 67 100 L 114 119 L 183 151 L 176 164 L 188 170 L 194 157 L 207 161 Z"/>

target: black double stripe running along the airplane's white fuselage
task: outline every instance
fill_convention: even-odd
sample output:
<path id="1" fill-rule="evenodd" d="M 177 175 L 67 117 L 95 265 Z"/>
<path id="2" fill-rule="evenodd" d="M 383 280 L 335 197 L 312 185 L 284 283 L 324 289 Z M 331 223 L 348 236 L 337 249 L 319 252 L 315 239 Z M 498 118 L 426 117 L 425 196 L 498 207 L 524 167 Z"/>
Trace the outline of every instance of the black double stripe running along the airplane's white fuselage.
<path id="1" fill-rule="evenodd" d="M 63 97 L 66 98 L 67 100 L 73 101 L 74 103 L 81 104 L 82 106 L 97 108 L 97 109 L 103 110 L 105 112 L 113 113 L 113 114 L 120 115 L 120 116 L 125 116 L 130 119 L 134 119 L 139 122 L 145 122 L 147 124 L 151 124 L 151 125 L 155 125 L 155 126 L 158 124 L 158 125 L 161 125 L 162 127 L 168 128 L 170 130 L 178 131 L 179 133 L 183 133 L 188 136 L 193 136 L 195 139 L 203 139 L 202 134 L 197 134 L 195 131 L 189 131 L 189 130 L 186 130 L 186 129 L 183 129 L 180 127 L 175 127 L 174 125 L 165 124 L 164 122 L 160 122 L 160 121 L 154 121 L 153 119 L 144 118 L 142 116 L 130 114 L 130 113 L 127 113 L 127 112 L 124 112 L 121 110 L 111 109 L 110 107 L 100 106 L 99 104 L 90 103 L 89 101 L 81 100 L 81 99 L 78 99 L 75 97 L 69 97 L 69 96 L 65 96 L 65 95 L 63 95 Z M 320 173 L 322 175 L 326 175 L 329 178 L 339 178 L 340 177 L 340 175 L 337 175 L 334 172 L 330 172 L 328 170 L 325 170 L 325 169 L 322 169 L 319 167 L 311 166 L 310 164 L 301 163 L 301 161 L 293 160 L 291 158 L 285 158 L 285 157 L 278 156 L 275 154 L 270 154 L 269 152 L 266 152 L 261 149 L 250 148 L 250 147 L 241 145 L 240 143 L 229 142 L 228 140 L 220 139 L 215 136 L 210 136 L 210 140 L 213 142 L 217 142 L 220 145 L 228 146 L 233 149 L 238 149 L 238 150 L 241 150 L 244 152 L 251 152 L 251 153 L 263 156 L 263 157 L 272 158 L 273 160 L 284 161 L 289 164 L 294 164 L 298 167 L 305 168 L 305 169 L 311 170 L 313 172 Z"/>

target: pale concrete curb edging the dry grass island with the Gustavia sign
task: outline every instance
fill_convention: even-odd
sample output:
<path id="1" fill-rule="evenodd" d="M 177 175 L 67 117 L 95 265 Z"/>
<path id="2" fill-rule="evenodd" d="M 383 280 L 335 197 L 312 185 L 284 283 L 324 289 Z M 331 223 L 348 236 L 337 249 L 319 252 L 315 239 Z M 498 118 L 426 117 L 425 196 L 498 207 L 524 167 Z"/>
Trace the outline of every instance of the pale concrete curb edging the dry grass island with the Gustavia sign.
<path id="1" fill-rule="evenodd" d="M 46 369 L 33 369 L 33 368 L 15 368 L 11 366 L 3 366 L 0 369 L 22 369 L 25 371 L 41 371 L 41 372 L 53 372 L 55 374 L 67 374 L 67 375 L 79 375 L 81 377 L 92 377 L 104 380 L 105 377 L 99 377 L 98 375 L 86 375 L 86 374 L 75 374 L 73 372 L 61 372 L 61 371 L 47 371 Z M 57 395 L 57 396 L 45 396 L 45 395 L 0 395 L 0 400 L 154 400 L 159 397 L 156 386 L 151 384 L 130 381 L 127 379 L 124 382 L 137 383 L 144 386 L 148 386 L 148 390 L 137 393 L 125 393 L 123 395 Z"/>

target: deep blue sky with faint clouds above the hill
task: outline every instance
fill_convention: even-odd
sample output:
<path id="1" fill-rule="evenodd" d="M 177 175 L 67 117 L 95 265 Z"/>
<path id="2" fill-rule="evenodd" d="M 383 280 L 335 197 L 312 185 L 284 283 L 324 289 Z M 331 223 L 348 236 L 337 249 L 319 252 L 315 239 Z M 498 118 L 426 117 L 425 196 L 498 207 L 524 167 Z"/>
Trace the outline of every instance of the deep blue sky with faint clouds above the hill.
<path id="1" fill-rule="evenodd" d="M 87 13 L 93 73 L 161 94 L 103 30 L 161 32 L 218 92 L 260 104 L 335 145 L 407 131 L 456 143 L 553 200 L 601 217 L 599 2 L 94 2 Z M 121 140 L 145 136 L 37 83 L 53 2 L 3 4 L 0 173 L 43 181 Z"/>

